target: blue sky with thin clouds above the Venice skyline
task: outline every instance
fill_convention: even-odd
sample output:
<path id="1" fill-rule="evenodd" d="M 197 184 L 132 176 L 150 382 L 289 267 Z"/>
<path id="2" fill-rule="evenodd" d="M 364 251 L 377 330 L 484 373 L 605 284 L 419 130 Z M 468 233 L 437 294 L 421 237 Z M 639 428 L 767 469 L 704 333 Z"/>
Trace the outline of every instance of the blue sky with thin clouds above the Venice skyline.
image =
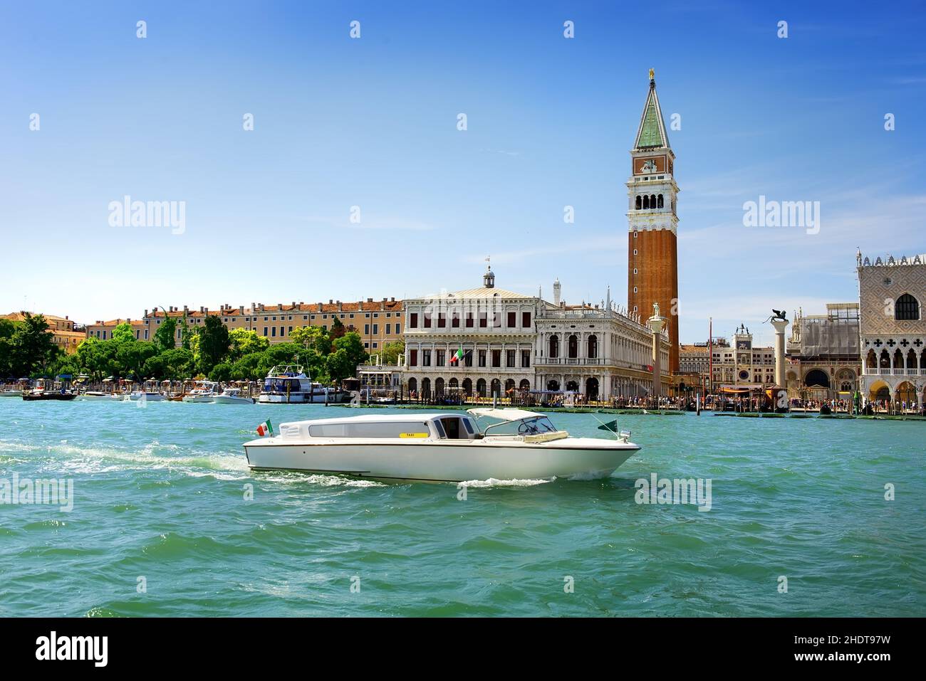
<path id="1" fill-rule="evenodd" d="M 0 310 L 402 298 L 490 254 L 502 288 L 625 303 L 650 67 L 682 341 L 857 299 L 857 247 L 926 251 L 922 3 L 694 5 L 4 3 Z M 124 195 L 185 202 L 184 232 L 110 226 Z M 745 227 L 759 195 L 819 201 L 820 233 Z"/>

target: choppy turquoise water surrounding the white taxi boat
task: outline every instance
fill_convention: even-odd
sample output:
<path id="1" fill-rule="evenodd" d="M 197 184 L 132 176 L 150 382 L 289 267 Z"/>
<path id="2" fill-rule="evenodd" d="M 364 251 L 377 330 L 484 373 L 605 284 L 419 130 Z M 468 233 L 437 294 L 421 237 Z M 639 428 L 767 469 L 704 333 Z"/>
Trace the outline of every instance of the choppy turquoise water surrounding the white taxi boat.
<path id="1" fill-rule="evenodd" d="M 0 399 L 0 480 L 70 478 L 74 501 L 0 505 L 0 615 L 924 613 L 926 423 L 618 416 L 643 449 L 613 477 L 466 501 L 248 471 L 265 418 L 357 413 Z M 652 473 L 710 478 L 711 510 L 636 503 Z"/>

